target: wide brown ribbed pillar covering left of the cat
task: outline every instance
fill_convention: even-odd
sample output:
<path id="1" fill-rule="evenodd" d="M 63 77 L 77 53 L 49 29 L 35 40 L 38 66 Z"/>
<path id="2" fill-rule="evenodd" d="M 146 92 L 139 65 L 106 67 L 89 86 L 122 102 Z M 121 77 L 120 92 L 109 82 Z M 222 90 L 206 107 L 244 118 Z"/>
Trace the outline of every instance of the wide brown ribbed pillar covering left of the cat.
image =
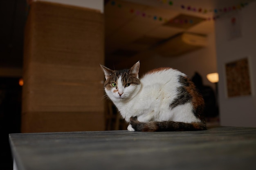
<path id="1" fill-rule="evenodd" d="M 22 132 L 104 130 L 103 14 L 33 2 L 25 28 Z"/>

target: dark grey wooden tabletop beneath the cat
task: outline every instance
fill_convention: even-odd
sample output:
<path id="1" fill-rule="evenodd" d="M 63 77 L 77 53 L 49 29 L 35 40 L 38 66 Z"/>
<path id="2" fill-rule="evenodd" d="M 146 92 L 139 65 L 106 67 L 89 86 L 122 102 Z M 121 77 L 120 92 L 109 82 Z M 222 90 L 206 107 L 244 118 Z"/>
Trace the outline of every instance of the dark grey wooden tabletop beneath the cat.
<path id="1" fill-rule="evenodd" d="M 256 128 L 10 134 L 18 170 L 255 170 Z"/>

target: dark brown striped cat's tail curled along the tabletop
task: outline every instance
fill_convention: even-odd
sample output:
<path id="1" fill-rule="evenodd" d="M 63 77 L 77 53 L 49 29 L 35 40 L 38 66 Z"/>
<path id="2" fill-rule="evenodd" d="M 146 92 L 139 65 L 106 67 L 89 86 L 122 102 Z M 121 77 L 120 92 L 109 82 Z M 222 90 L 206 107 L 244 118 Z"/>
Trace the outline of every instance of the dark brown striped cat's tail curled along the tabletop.
<path id="1" fill-rule="evenodd" d="M 139 122 L 137 117 L 130 118 L 130 124 L 135 131 L 159 132 L 159 131 L 202 131 L 206 130 L 205 122 Z"/>

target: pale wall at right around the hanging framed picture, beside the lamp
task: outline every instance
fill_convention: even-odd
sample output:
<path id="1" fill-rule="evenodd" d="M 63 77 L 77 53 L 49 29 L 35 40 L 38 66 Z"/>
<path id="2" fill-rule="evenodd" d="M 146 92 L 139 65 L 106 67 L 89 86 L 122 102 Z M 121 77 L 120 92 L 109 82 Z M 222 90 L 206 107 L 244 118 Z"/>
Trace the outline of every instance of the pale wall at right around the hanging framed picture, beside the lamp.
<path id="1" fill-rule="evenodd" d="M 230 13 L 216 20 L 216 54 L 219 81 L 220 121 L 223 126 L 256 127 L 256 96 L 227 98 L 225 84 L 225 63 L 249 56 L 252 88 L 256 83 L 256 2 L 238 13 Z M 231 18 L 238 16 L 241 36 L 229 40 Z M 238 27 L 239 28 L 239 27 Z"/>

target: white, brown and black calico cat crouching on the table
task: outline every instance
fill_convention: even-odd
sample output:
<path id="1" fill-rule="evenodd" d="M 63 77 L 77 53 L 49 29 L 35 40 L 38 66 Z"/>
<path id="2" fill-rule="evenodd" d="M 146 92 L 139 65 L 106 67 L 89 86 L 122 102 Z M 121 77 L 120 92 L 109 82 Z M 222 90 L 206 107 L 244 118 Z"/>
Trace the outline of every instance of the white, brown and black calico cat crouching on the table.
<path id="1" fill-rule="evenodd" d="M 186 74 L 158 68 L 139 78 L 139 61 L 130 69 L 103 65 L 106 95 L 129 122 L 128 131 L 206 130 L 204 100 Z"/>

